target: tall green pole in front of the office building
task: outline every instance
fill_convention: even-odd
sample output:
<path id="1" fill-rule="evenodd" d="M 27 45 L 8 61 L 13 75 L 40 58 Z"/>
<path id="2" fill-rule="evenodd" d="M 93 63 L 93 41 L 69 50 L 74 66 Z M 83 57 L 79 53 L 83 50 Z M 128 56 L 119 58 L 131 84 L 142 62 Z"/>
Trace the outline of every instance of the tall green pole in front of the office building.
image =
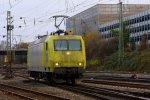
<path id="1" fill-rule="evenodd" d="M 123 18 L 122 18 L 122 1 L 119 0 L 119 65 L 123 62 L 124 43 L 123 43 Z"/>

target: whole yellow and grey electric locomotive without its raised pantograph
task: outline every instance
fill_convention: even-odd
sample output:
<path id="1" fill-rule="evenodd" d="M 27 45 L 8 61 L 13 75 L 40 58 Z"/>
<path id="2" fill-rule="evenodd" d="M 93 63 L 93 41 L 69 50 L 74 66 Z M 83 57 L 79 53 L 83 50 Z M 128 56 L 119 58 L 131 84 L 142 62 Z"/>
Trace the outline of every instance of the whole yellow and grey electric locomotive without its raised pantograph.
<path id="1" fill-rule="evenodd" d="M 52 34 L 43 36 L 28 47 L 28 71 L 35 79 L 54 78 L 75 84 L 86 68 L 82 36 Z"/>

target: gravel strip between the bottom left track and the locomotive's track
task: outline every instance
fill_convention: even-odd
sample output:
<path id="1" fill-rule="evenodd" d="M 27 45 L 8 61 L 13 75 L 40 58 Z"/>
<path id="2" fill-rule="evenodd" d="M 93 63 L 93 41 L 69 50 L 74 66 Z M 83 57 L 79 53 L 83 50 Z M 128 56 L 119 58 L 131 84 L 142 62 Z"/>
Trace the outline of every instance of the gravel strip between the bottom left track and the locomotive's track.
<path id="1" fill-rule="evenodd" d="M 20 87 L 24 87 L 24 88 L 33 89 L 33 90 L 39 90 L 39 91 L 42 91 L 42 92 L 45 92 L 45 93 L 50 93 L 50 94 L 54 94 L 54 95 L 57 95 L 57 96 L 66 97 L 70 100 L 95 100 L 93 98 L 86 97 L 84 95 L 75 94 L 75 93 L 70 92 L 70 91 L 62 90 L 62 89 L 59 89 L 59 88 L 56 88 L 56 87 L 44 85 L 44 84 L 37 83 L 37 82 L 34 82 L 34 81 L 24 82 L 25 79 L 23 79 L 21 77 L 15 77 L 15 78 L 9 79 L 9 80 L 4 80 L 3 77 L 4 76 L 0 75 L 0 82 L 1 83 L 16 85 L 16 86 L 20 86 Z M 9 99 L 7 99 L 7 97 L 5 98 L 5 95 L 4 95 L 3 98 L 2 99 L 0 98 L 0 100 L 9 100 Z"/>

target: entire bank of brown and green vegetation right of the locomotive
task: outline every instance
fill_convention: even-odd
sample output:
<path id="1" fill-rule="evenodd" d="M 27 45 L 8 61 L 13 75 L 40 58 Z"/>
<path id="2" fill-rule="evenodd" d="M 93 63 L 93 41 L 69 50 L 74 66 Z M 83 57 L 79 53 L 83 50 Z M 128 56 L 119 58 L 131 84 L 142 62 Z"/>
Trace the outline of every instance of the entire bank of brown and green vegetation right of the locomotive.
<path id="1" fill-rule="evenodd" d="M 126 38 L 126 37 L 125 37 Z M 128 39 L 128 38 L 127 38 Z M 118 37 L 103 40 L 98 33 L 88 33 L 85 38 L 87 54 L 87 70 L 105 71 L 138 71 L 150 72 L 150 49 L 147 46 L 147 36 L 141 37 L 139 49 L 135 44 L 125 40 L 124 58 L 118 64 Z"/>

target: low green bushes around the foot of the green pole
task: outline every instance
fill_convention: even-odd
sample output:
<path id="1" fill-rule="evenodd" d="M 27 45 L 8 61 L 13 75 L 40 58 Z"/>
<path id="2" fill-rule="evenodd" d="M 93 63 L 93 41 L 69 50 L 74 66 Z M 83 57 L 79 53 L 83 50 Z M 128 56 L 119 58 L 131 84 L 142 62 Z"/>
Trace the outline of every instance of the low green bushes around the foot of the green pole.
<path id="1" fill-rule="evenodd" d="M 150 50 L 126 52 L 118 65 L 118 52 L 105 58 L 103 70 L 150 72 Z"/>

